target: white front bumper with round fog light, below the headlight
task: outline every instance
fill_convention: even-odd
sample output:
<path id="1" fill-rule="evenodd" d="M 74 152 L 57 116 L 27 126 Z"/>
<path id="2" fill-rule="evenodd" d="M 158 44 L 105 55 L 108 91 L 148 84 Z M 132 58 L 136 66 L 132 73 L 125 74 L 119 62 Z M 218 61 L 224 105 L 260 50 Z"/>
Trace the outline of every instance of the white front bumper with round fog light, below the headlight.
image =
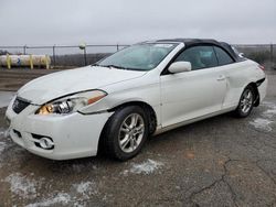
<path id="1" fill-rule="evenodd" d="M 13 101 L 11 101 L 13 102 Z M 52 160 L 70 160 L 97 154 L 102 130 L 112 116 L 109 112 L 66 116 L 34 115 L 39 106 L 30 105 L 19 115 L 8 107 L 6 116 L 10 121 L 10 137 L 31 153 Z M 40 138 L 51 138 L 54 148 L 42 149 Z"/>

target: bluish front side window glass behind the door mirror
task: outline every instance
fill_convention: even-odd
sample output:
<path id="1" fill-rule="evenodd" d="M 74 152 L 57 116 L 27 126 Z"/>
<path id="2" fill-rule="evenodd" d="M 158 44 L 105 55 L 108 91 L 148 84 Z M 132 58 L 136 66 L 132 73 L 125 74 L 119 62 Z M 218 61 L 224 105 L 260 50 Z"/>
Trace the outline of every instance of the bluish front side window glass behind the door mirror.
<path id="1" fill-rule="evenodd" d="M 190 62 L 192 70 L 216 67 L 217 61 L 212 46 L 193 46 L 183 51 L 174 62 Z"/>

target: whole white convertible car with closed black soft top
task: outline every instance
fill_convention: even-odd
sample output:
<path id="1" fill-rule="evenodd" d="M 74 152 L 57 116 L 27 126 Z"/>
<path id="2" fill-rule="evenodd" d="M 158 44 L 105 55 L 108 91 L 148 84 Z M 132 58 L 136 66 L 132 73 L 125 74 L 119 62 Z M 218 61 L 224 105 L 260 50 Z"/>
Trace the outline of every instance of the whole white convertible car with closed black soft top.
<path id="1" fill-rule="evenodd" d="M 6 113 L 10 137 L 47 159 L 93 156 L 100 146 L 124 161 L 150 134 L 229 111 L 247 117 L 266 95 L 263 69 L 213 40 L 135 44 L 28 83 Z"/>

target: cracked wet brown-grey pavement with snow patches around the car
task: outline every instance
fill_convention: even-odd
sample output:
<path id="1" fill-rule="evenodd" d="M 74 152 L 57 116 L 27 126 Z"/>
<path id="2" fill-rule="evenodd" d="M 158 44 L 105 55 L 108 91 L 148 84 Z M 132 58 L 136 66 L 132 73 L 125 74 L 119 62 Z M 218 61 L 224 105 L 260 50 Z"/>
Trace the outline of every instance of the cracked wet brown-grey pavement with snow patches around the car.
<path id="1" fill-rule="evenodd" d="M 0 206 L 276 206 L 276 75 L 268 78 L 251 117 L 223 115 L 150 138 L 124 163 L 33 155 L 3 138 L 1 108 Z"/>

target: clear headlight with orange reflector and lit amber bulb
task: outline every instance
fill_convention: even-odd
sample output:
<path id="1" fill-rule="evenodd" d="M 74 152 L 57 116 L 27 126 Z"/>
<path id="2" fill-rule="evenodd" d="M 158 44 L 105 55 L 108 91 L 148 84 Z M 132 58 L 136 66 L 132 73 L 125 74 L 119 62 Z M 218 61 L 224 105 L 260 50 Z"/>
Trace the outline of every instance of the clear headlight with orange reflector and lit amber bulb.
<path id="1" fill-rule="evenodd" d="M 78 109 L 82 109 L 83 107 L 93 105 L 94 102 L 104 98 L 106 95 L 107 94 L 103 90 L 91 90 L 86 92 L 78 92 L 43 105 L 36 111 L 36 115 L 50 115 L 50 113 L 66 115 L 75 112 Z"/>

